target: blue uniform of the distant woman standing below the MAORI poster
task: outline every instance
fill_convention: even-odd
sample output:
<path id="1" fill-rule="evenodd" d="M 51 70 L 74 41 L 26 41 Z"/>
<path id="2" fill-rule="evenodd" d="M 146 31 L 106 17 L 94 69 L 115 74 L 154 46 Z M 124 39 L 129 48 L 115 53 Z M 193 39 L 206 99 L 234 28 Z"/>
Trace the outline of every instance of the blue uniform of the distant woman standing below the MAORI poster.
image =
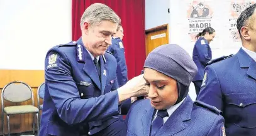
<path id="1" fill-rule="evenodd" d="M 209 43 L 203 37 L 200 37 L 198 41 L 196 41 L 192 58 L 198 67 L 198 73 L 196 73 L 196 76 L 193 79 L 193 83 L 196 88 L 196 94 L 198 95 L 203 80 L 204 68 L 206 67 L 206 63 L 208 63 L 208 61 L 210 61 L 212 58 Z"/>

